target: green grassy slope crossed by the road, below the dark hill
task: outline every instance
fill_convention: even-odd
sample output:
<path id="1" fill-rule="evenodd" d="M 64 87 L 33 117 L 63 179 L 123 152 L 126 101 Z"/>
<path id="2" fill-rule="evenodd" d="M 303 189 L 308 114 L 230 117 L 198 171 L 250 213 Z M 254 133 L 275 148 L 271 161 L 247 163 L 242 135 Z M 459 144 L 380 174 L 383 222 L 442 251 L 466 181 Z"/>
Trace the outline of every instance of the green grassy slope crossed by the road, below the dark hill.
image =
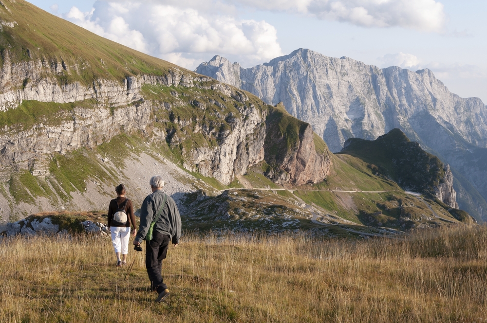
<path id="1" fill-rule="evenodd" d="M 420 223 L 434 225 L 437 219 L 423 202 L 405 194 L 395 182 L 383 176 L 374 175 L 368 163 L 359 158 L 338 154 L 333 155 L 332 174 L 325 182 L 297 188 L 295 194 L 308 204 L 347 220 L 371 226 L 385 226 L 395 229 L 408 229 Z M 385 191 L 384 193 L 340 193 L 331 191 Z M 401 218 L 401 206 L 406 203 L 411 208 L 405 220 Z M 429 200 L 433 209 L 445 219 L 456 222 L 445 208 Z M 387 206 L 387 207 L 386 207 Z M 380 213 L 380 214 L 377 214 Z M 440 221 L 441 222 L 441 221 Z M 404 226 L 403 226 L 404 224 Z"/>

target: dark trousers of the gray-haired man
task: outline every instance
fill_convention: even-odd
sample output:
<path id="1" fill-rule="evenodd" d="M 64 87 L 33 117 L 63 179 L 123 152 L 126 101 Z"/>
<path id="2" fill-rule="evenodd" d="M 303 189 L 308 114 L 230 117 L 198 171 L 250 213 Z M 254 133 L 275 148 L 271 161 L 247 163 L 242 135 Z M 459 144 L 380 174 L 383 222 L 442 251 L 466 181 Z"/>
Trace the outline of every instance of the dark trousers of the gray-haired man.
<path id="1" fill-rule="evenodd" d="M 146 241 L 146 268 L 149 275 L 150 288 L 158 293 L 168 288 L 164 284 L 161 271 L 162 260 L 166 259 L 171 237 L 154 230 L 152 240 Z"/>

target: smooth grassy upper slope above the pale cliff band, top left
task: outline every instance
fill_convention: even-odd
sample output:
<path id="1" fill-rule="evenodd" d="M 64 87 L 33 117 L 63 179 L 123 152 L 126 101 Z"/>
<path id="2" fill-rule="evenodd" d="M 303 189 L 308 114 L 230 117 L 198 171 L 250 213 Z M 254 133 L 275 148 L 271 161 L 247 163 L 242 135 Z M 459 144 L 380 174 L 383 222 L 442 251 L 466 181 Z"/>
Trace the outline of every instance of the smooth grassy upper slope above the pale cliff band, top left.
<path id="1" fill-rule="evenodd" d="M 134 74 L 164 75 L 176 67 L 97 36 L 24 0 L 3 3 L 9 10 L 0 6 L 0 17 L 18 25 L 3 27 L 0 33 L 0 64 L 4 63 L 5 51 L 9 51 L 11 60 L 17 63 L 64 62 L 68 70 L 77 65 L 79 73 L 72 70 L 59 74 L 59 82 L 80 81 L 88 86 L 98 78 L 122 81 Z"/>

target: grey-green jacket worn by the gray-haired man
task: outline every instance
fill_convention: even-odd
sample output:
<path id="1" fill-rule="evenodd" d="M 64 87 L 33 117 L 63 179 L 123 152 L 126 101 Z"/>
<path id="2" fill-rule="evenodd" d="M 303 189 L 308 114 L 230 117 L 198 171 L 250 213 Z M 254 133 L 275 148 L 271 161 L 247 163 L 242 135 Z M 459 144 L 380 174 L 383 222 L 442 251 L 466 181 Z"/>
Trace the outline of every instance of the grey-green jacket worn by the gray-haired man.
<path id="1" fill-rule="evenodd" d="M 162 190 L 157 190 L 144 199 L 140 208 L 140 225 L 135 241 L 142 242 L 146 237 L 150 223 L 157 216 L 165 195 Z M 168 196 L 166 205 L 164 205 L 161 215 L 154 225 L 154 231 L 169 235 L 171 242 L 174 244 L 179 243 L 179 238 L 181 237 L 181 216 L 179 215 L 176 202 L 170 196 Z"/>

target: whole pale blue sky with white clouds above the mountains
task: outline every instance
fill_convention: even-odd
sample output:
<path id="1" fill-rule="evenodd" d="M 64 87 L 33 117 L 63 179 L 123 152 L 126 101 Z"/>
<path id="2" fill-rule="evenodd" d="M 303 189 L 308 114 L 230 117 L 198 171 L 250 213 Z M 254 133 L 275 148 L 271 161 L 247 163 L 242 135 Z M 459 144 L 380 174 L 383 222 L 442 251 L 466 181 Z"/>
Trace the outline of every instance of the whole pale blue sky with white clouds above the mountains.
<path id="1" fill-rule="evenodd" d="M 308 48 L 384 68 L 428 68 L 487 103 L 486 0 L 29 0 L 95 34 L 190 70 Z"/>

